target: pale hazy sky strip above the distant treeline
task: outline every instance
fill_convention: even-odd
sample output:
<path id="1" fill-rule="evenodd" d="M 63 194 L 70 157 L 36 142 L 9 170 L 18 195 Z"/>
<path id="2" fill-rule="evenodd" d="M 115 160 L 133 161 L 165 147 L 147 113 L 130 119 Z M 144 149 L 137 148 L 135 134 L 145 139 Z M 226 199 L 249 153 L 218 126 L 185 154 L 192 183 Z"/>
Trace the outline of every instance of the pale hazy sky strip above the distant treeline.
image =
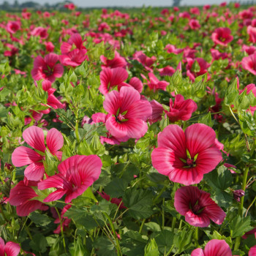
<path id="1" fill-rule="evenodd" d="M 23 3 L 29 0 L 18 0 L 19 3 Z M 32 0 L 33 1 L 33 0 Z M 204 4 L 220 4 L 225 0 L 182 0 L 181 5 L 204 5 Z M 229 0 L 226 0 L 229 2 Z M 247 1 L 247 0 L 242 0 Z M 0 0 L 2 4 L 4 0 Z M 8 1 L 10 4 L 14 2 L 14 0 Z M 59 0 L 40 0 L 38 1 L 40 4 L 50 3 L 55 4 L 58 3 Z M 152 7 L 161 7 L 161 6 L 171 6 L 173 4 L 172 0 L 129 0 L 129 1 L 121 1 L 121 0 L 73 0 L 74 4 L 78 7 L 142 7 L 143 4 L 146 6 L 151 5 Z"/>

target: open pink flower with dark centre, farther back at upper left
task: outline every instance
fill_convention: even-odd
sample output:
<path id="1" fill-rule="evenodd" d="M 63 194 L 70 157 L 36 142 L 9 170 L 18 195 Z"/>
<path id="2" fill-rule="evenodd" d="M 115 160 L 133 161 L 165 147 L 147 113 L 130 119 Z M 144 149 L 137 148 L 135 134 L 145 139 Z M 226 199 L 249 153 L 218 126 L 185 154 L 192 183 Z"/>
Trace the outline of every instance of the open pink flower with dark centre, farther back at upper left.
<path id="1" fill-rule="evenodd" d="M 64 68 L 61 64 L 56 64 L 59 61 L 59 56 L 55 53 L 49 53 L 42 58 L 37 56 L 34 59 L 34 68 L 31 70 L 31 75 L 34 80 L 49 80 L 53 83 L 56 78 L 61 78 Z"/>

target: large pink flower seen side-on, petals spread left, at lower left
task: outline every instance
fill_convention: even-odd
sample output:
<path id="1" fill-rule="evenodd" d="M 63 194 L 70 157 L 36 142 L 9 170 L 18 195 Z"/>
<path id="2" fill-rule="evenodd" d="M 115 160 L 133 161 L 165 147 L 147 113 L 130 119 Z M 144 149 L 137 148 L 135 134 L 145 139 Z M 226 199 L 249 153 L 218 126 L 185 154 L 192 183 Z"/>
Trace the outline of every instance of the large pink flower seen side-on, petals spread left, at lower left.
<path id="1" fill-rule="evenodd" d="M 69 157 L 59 164 L 59 173 L 39 182 L 38 189 L 56 188 L 44 202 L 59 200 L 66 195 L 65 203 L 82 195 L 99 178 L 102 161 L 96 155 Z"/>

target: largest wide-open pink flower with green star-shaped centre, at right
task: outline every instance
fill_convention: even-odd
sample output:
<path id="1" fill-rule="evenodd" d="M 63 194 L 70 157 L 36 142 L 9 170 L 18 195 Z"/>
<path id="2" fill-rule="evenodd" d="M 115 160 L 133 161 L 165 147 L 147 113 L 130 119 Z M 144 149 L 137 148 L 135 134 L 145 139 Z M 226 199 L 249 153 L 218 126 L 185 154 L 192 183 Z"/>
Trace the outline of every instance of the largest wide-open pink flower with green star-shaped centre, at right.
<path id="1" fill-rule="evenodd" d="M 222 160 L 214 145 L 214 129 L 206 124 L 192 124 L 185 132 L 170 124 L 158 135 L 158 148 L 152 152 L 152 165 L 170 181 L 197 184 Z"/>

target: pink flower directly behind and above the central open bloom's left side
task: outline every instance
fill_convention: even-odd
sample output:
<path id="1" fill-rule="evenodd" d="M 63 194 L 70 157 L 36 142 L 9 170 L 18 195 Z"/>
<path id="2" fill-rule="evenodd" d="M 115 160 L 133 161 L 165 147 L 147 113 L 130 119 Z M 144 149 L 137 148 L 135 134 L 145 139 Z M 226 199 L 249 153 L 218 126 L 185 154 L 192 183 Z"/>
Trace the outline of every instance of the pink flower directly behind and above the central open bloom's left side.
<path id="1" fill-rule="evenodd" d="M 100 79 L 100 86 L 99 91 L 106 95 L 110 89 L 113 87 L 118 86 L 120 83 L 123 83 L 128 78 L 128 72 L 126 69 L 122 67 L 116 67 L 114 69 L 105 68 L 100 72 L 99 79 Z"/>

